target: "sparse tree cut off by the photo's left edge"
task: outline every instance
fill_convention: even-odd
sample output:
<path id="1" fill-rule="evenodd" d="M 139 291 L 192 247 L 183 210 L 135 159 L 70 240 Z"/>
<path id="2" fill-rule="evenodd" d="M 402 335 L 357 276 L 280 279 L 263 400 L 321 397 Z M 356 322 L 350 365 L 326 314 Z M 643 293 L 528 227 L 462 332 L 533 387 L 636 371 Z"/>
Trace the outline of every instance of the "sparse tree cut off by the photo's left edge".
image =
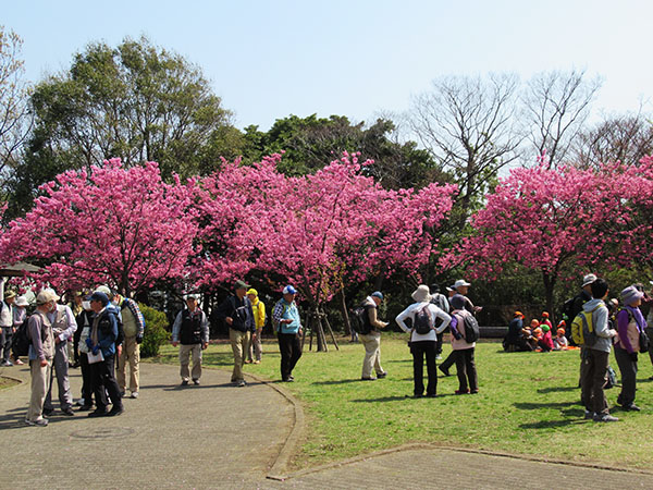
<path id="1" fill-rule="evenodd" d="M 0 26 L 0 175 L 16 158 L 32 122 L 25 70 L 19 59 L 22 46 L 17 34 Z"/>

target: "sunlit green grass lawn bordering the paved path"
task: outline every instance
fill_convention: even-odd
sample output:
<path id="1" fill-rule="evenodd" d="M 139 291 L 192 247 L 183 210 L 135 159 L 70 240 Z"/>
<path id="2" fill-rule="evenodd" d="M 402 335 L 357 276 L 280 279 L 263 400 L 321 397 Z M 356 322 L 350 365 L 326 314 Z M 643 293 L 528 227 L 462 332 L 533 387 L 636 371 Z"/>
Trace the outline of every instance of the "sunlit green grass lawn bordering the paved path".
<path id="1" fill-rule="evenodd" d="M 297 467 L 312 466 L 393 448 L 408 442 L 495 450 L 564 461 L 650 468 L 653 464 L 653 373 L 648 354 L 640 355 L 637 403 L 640 413 L 616 405 L 619 388 L 606 390 L 614 424 L 583 420 L 576 388 L 579 351 L 504 353 L 498 343 L 477 346 L 480 393 L 454 395 L 457 378 L 440 377 L 436 399 L 410 399 L 412 358 L 406 338 L 383 334 L 381 364 L 387 378 L 360 381 L 364 347 L 341 340 L 328 353 L 308 352 L 284 388 L 304 404 L 307 440 Z M 313 346 L 315 348 L 315 346 Z M 245 371 L 279 380 L 279 350 L 263 344 L 263 362 Z M 444 356 L 451 352 L 445 345 Z M 229 344 L 210 345 L 205 366 L 231 369 Z M 176 364 L 177 348 L 164 346 L 161 363 Z M 611 366 L 617 371 L 614 355 Z M 455 367 L 452 369 L 455 372 Z M 261 409 L 263 407 L 259 407 Z M 269 407 L 273 409 L 273 407 Z"/>

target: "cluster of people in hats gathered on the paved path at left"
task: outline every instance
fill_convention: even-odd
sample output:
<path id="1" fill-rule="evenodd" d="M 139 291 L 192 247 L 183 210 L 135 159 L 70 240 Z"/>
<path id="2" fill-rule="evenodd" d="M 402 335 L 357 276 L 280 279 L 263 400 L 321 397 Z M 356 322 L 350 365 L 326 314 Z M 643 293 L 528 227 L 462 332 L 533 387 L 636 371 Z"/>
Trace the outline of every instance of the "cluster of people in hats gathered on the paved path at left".
<path id="1" fill-rule="evenodd" d="M 4 352 L 10 352 L 14 344 L 12 338 L 27 322 L 25 334 L 29 342 L 27 357 L 32 375 L 29 407 L 25 417 L 27 425 L 48 425 L 47 417 L 54 413 L 54 378 L 63 416 L 74 416 L 75 405 L 79 412 L 89 412 L 89 417 L 122 414 L 127 366 L 131 397 L 138 397 L 139 344 L 145 320 L 136 302 L 122 297 L 108 286 L 100 286 L 91 294 L 73 293 L 73 301 L 64 305 L 54 290 L 44 289 L 36 296 L 34 314 L 27 317 L 26 298 L 16 298 L 14 292 L 4 291 L 4 280 L 0 280 L 0 294 L 4 297 L 0 313 Z M 11 328 L 4 323 L 9 315 L 14 318 Z M 5 330 L 9 331 L 7 334 Z M 3 362 L 3 366 L 23 364 L 15 348 L 13 359 L 13 363 L 9 359 Z M 69 369 L 73 366 L 81 367 L 83 380 L 82 396 L 76 404 L 69 381 Z"/>

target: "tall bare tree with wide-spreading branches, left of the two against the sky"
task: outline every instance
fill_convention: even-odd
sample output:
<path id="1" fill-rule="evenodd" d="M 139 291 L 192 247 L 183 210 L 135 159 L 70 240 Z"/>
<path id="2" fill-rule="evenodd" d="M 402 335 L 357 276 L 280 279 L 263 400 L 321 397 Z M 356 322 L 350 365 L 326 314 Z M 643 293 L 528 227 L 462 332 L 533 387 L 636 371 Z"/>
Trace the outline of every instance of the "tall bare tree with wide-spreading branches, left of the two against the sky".
<path id="1" fill-rule="evenodd" d="M 518 156 L 518 87 L 513 74 L 447 76 L 433 81 L 431 90 L 411 101 L 408 124 L 442 171 L 454 174 L 463 218 L 488 182 Z"/>

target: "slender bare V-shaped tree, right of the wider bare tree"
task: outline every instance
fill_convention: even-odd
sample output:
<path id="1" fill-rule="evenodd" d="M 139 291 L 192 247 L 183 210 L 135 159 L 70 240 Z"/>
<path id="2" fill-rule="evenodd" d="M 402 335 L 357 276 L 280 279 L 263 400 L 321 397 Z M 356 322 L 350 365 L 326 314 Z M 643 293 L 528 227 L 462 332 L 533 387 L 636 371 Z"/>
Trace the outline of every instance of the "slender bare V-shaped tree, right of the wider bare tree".
<path id="1" fill-rule="evenodd" d="M 527 83 L 522 103 L 529 139 L 535 156 L 546 152 L 550 167 L 570 156 L 601 84 L 601 78 L 587 79 L 577 70 L 540 73 Z"/>

